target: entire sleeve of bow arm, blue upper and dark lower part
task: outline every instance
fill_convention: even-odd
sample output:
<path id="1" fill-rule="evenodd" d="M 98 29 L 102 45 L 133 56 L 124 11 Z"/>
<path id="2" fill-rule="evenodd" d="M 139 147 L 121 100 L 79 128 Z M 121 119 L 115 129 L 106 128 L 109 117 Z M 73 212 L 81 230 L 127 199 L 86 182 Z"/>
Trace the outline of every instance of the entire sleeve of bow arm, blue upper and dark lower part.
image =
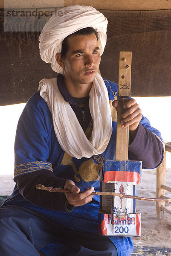
<path id="1" fill-rule="evenodd" d="M 70 211 L 63 193 L 36 189 L 37 184 L 64 188 L 67 179 L 56 177 L 50 160 L 52 116 L 38 93 L 33 95 L 20 116 L 14 146 L 14 181 L 30 203 L 58 211 Z M 58 154 L 58 152 L 57 152 Z"/>

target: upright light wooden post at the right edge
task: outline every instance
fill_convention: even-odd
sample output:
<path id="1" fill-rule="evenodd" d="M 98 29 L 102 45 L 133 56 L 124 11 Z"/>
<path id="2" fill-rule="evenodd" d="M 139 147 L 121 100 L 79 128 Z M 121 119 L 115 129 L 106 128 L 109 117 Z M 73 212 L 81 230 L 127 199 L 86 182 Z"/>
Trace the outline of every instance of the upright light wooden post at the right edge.
<path id="1" fill-rule="evenodd" d="M 166 181 L 166 151 L 164 152 L 164 159 L 159 167 L 157 167 L 156 175 L 156 197 L 161 198 L 165 196 L 165 189 L 162 189 L 162 185 L 165 185 Z M 162 207 L 165 207 L 165 202 L 156 202 L 157 218 L 161 220 L 163 218 L 164 211 Z"/>

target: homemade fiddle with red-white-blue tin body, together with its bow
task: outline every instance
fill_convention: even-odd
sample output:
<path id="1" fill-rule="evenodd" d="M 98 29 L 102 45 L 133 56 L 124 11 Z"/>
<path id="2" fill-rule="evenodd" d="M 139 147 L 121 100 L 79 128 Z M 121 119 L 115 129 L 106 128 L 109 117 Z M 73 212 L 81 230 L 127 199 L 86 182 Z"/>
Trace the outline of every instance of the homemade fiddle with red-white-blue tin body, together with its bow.
<path id="1" fill-rule="evenodd" d="M 136 199 L 147 201 L 166 201 L 164 198 L 145 198 L 136 196 L 136 188 L 141 181 L 141 161 L 128 160 L 129 127 L 122 128 L 123 106 L 130 99 L 131 52 L 120 52 L 119 83 L 115 160 L 103 160 L 100 168 L 99 234 L 107 236 L 140 236 L 141 214 L 136 213 Z M 45 187 L 37 189 L 49 192 L 70 193 L 69 190 Z M 80 191 L 81 192 L 81 191 Z"/>

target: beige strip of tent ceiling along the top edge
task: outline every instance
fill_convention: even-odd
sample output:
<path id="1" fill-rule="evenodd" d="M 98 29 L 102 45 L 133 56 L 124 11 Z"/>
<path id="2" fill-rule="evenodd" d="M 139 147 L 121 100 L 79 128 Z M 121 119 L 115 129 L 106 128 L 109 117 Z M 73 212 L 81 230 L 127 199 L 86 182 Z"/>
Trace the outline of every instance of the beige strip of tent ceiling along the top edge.
<path id="1" fill-rule="evenodd" d="M 93 6 L 102 10 L 171 9 L 171 0 L 0 0 L 0 8 L 46 8 L 73 4 Z"/>

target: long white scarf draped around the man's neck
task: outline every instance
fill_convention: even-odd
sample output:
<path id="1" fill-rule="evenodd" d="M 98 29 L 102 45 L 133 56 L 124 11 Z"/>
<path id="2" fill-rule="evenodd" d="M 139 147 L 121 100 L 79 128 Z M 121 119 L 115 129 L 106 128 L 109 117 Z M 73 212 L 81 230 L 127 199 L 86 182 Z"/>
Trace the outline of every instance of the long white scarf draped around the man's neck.
<path id="1" fill-rule="evenodd" d="M 42 79 L 39 82 L 39 89 L 41 97 L 52 113 L 57 140 L 67 154 L 80 159 L 104 152 L 112 134 L 112 119 L 107 88 L 98 73 L 89 94 L 90 113 L 93 119 L 90 141 L 84 134 L 70 104 L 61 95 L 56 78 Z"/>

